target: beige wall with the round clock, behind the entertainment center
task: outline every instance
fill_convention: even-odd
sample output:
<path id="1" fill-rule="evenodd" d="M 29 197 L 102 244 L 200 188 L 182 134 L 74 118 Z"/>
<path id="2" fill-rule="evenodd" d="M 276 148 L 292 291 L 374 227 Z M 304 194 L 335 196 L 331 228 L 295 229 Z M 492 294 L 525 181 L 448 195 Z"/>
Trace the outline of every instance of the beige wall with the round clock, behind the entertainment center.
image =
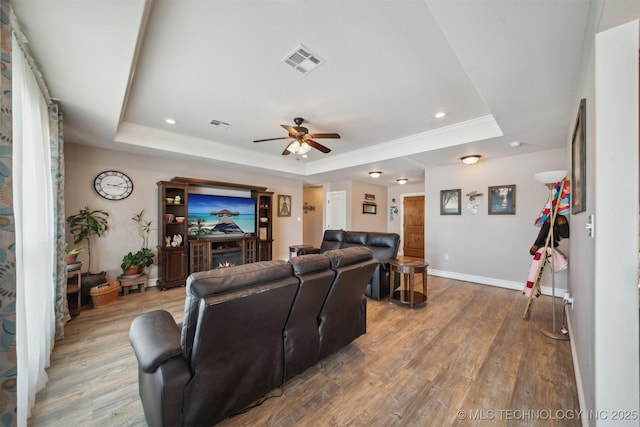
<path id="1" fill-rule="evenodd" d="M 133 194 L 121 201 L 109 201 L 98 196 L 93 189 L 93 180 L 104 170 L 119 170 L 129 175 L 133 180 Z M 105 236 L 94 241 L 92 262 L 92 270 L 106 271 L 110 280 L 121 274 L 122 257 L 141 246 L 141 239 L 131 217 L 142 209 L 145 211 L 145 217 L 153 221 L 154 231 L 149 239 L 149 246 L 154 253 L 157 253 L 155 250 L 158 225 L 156 183 L 170 180 L 174 176 L 266 186 L 267 191 L 274 192 L 274 202 L 278 194 L 291 195 L 293 206 L 290 217 L 278 217 L 274 211 L 273 258 L 287 259 L 289 245 L 302 242 L 301 180 L 221 168 L 211 161 L 197 158 L 173 156 L 167 159 L 76 144 L 65 144 L 65 174 L 67 216 L 77 213 L 84 206 L 103 209 L 110 215 L 109 231 Z M 68 240 L 71 240 L 70 236 Z M 86 253 L 82 253 L 80 259 L 86 266 Z M 149 284 L 155 284 L 156 265 L 150 267 L 149 276 Z"/>

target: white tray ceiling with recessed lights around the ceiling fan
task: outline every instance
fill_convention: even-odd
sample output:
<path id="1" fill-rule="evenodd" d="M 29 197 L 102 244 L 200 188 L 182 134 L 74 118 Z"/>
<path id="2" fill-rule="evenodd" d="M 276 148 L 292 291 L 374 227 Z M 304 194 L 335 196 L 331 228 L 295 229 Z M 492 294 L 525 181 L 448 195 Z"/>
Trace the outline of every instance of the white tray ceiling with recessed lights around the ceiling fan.
<path id="1" fill-rule="evenodd" d="M 614 1 L 608 21 L 637 13 L 637 0 Z M 14 0 L 13 9 L 68 142 L 309 184 L 379 169 L 376 183 L 395 185 L 466 154 L 490 161 L 565 146 L 590 4 Z M 281 62 L 300 44 L 326 61 L 307 75 Z M 286 136 L 280 125 L 294 117 L 342 138 L 318 141 L 331 153 L 306 159 L 282 156 L 286 140 L 252 142 Z"/>

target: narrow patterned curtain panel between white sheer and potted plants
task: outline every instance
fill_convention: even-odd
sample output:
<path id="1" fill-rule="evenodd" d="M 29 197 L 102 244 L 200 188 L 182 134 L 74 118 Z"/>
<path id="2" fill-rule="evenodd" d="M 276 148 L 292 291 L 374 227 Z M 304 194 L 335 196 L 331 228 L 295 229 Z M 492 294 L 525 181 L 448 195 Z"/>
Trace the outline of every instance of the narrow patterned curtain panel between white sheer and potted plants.
<path id="1" fill-rule="evenodd" d="M 64 216 L 64 151 L 62 138 L 62 111 L 57 103 L 49 105 L 49 149 L 51 150 L 51 181 L 53 184 L 53 214 L 55 227 L 56 257 L 55 317 L 57 340 L 64 338 L 64 325 L 71 319 L 67 305 L 67 266 L 65 262 L 65 216 Z"/>

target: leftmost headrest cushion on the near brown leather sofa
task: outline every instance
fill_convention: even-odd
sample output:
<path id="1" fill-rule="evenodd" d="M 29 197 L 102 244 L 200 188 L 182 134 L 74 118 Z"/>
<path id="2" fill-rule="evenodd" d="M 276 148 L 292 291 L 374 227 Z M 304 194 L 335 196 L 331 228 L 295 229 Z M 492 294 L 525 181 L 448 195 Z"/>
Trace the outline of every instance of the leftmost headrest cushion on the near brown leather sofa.
<path id="1" fill-rule="evenodd" d="M 203 298 L 291 276 L 291 265 L 283 260 L 218 268 L 192 273 L 187 278 L 187 293 Z"/>

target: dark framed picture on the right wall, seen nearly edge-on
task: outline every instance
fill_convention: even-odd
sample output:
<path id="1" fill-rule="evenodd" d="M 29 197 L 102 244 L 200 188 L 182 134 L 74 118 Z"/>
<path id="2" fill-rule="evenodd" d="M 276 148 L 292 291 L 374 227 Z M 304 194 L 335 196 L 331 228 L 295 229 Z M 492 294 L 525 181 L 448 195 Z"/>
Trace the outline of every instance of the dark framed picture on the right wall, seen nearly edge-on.
<path id="1" fill-rule="evenodd" d="M 571 140 L 571 214 L 587 209 L 587 135 L 586 135 L 587 101 L 580 100 L 576 126 Z"/>

